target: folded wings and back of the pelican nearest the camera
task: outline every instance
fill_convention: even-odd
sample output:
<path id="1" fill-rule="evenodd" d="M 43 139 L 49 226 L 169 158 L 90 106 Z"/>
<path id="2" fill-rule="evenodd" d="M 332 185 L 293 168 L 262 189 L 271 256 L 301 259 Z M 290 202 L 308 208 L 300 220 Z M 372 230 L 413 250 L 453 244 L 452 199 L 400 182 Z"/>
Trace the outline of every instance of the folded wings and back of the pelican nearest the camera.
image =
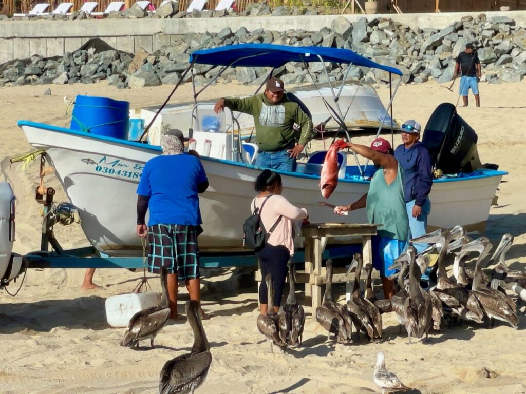
<path id="1" fill-rule="evenodd" d="M 189 392 L 192 387 L 199 387 L 208 374 L 211 362 L 209 351 L 167 361 L 160 373 L 159 394 Z"/>

